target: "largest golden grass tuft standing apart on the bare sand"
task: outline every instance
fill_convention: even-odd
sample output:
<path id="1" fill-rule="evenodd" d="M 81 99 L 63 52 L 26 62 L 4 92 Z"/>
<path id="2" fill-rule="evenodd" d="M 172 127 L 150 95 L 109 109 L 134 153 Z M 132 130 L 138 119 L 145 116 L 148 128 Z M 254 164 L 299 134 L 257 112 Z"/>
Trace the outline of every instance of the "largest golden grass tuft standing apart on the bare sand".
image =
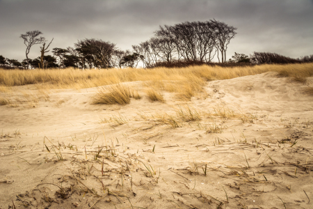
<path id="1" fill-rule="evenodd" d="M 109 91 L 106 92 L 106 91 Z M 93 98 L 92 104 L 129 104 L 130 98 L 141 99 L 138 91 L 130 90 L 128 86 L 116 84 L 102 87 Z"/>

